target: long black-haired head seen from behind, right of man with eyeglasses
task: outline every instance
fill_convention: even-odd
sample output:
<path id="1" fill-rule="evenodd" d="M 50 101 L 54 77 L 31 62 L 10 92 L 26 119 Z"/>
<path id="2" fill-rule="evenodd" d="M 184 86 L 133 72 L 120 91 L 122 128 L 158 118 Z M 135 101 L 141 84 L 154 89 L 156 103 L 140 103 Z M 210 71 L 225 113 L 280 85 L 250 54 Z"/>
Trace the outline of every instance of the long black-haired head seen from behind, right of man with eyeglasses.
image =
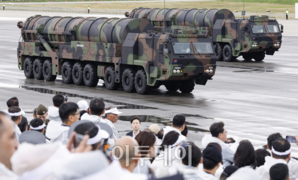
<path id="1" fill-rule="evenodd" d="M 238 168 L 248 166 L 256 169 L 256 154 L 250 141 L 240 141 L 234 155 L 234 165 Z"/>

